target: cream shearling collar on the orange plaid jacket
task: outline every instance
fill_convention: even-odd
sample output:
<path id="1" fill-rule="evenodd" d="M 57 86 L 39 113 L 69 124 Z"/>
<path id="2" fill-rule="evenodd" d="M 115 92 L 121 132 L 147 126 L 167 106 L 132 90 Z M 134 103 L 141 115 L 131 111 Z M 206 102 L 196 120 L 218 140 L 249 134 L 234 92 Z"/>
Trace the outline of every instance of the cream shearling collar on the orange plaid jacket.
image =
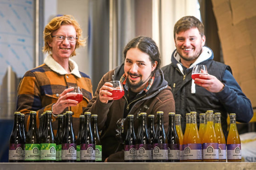
<path id="1" fill-rule="evenodd" d="M 51 57 L 50 54 L 45 58 L 44 63 L 45 63 L 48 67 L 50 67 L 50 69 L 52 69 L 53 71 L 55 71 L 56 73 L 59 73 L 59 74 L 61 74 L 61 75 L 68 74 L 67 71 L 61 66 L 61 64 L 59 64 L 58 62 L 56 62 L 56 61 Z M 68 64 L 69 64 L 70 69 L 72 70 L 72 71 L 71 71 L 71 74 L 74 74 L 74 75 L 77 76 L 78 78 L 81 78 L 81 75 L 80 75 L 79 70 L 78 70 L 78 65 L 76 64 L 76 62 L 69 58 Z"/>

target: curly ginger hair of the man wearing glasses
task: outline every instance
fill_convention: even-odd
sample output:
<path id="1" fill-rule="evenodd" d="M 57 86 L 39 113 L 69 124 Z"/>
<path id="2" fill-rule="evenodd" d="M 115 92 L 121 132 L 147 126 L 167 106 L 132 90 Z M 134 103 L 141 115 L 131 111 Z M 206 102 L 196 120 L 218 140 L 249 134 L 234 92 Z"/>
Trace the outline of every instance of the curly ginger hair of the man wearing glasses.
<path id="1" fill-rule="evenodd" d="M 51 53 L 52 48 L 49 46 L 49 43 L 52 41 L 52 35 L 51 33 L 59 29 L 62 25 L 72 25 L 74 26 L 76 33 L 77 33 L 77 42 L 76 42 L 76 48 L 79 48 L 80 46 L 85 46 L 85 39 L 82 37 L 82 29 L 80 28 L 80 25 L 78 22 L 74 19 L 71 15 L 63 15 L 63 16 L 57 16 L 53 18 L 46 26 L 44 30 L 44 39 L 45 39 L 45 46 L 43 47 L 43 52 Z M 76 51 L 74 50 L 71 54 L 71 57 L 76 55 Z"/>

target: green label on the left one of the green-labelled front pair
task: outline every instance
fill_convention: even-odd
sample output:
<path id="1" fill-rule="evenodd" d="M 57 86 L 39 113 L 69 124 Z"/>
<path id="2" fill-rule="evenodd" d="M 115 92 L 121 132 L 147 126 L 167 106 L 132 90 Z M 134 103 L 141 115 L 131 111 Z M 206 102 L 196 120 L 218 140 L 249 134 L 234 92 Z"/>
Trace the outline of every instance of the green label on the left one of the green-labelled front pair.
<path id="1" fill-rule="evenodd" d="M 40 144 L 25 144 L 25 160 L 40 160 Z"/>

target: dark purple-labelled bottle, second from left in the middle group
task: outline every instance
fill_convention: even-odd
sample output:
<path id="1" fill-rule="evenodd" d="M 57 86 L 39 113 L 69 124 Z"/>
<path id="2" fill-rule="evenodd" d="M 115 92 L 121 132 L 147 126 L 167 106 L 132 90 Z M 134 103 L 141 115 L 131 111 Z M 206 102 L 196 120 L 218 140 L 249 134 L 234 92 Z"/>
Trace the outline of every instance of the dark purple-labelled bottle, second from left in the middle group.
<path id="1" fill-rule="evenodd" d="M 136 136 L 136 159 L 138 162 L 151 161 L 151 146 L 146 117 L 147 113 L 139 113 L 139 130 Z"/>

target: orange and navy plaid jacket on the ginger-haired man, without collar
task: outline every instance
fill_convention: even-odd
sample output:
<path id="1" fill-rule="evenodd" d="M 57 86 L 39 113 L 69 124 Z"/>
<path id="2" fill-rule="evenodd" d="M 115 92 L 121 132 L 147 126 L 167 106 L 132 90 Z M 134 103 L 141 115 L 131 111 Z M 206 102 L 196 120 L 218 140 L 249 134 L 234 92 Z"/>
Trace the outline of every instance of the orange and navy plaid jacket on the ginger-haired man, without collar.
<path id="1" fill-rule="evenodd" d="M 77 106 L 67 107 L 64 111 L 72 111 L 73 127 L 75 134 L 78 134 L 79 116 L 92 98 L 92 84 L 88 75 L 79 72 L 81 78 L 74 74 L 59 74 L 50 69 L 46 64 L 32 69 L 25 73 L 19 86 L 17 95 L 17 111 L 24 113 L 27 128 L 29 126 L 29 112 L 37 112 L 37 126 L 39 127 L 39 116 L 45 111 L 51 111 L 51 107 L 59 98 L 63 90 L 69 85 L 82 87 L 83 101 Z M 52 116 L 52 127 L 57 130 L 56 117 Z"/>

